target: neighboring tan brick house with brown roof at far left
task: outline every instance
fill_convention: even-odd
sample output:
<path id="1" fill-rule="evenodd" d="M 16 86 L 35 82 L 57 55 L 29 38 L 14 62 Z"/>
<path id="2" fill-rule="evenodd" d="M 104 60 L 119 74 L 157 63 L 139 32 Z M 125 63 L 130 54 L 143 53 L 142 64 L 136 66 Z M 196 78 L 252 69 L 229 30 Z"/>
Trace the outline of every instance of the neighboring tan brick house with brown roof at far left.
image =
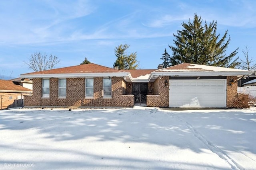
<path id="1" fill-rule="evenodd" d="M 32 90 L 24 88 L 12 80 L 0 80 L 0 109 L 22 107 L 23 95 L 31 93 Z"/>

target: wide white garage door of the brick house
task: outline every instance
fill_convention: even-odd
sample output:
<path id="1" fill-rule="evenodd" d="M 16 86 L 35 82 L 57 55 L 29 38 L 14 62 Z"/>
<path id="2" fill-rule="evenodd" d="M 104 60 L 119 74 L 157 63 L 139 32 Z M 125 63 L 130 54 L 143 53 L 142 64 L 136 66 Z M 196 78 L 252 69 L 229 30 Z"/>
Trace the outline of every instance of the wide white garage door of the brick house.
<path id="1" fill-rule="evenodd" d="M 169 82 L 170 107 L 226 107 L 226 79 Z"/>

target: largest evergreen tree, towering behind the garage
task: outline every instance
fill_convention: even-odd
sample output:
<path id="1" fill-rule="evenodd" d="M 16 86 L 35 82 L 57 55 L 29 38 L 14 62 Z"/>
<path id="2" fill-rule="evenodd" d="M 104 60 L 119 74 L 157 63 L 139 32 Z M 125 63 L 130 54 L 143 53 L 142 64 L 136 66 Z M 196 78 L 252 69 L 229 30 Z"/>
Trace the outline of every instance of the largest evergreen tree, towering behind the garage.
<path id="1" fill-rule="evenodd" d="M 193 63 L 234 68 L 240 64 L 238 58 L 233 60 L 238 53 L 238 48 L 230 55 L 225 54 L 230 37 L 225 41 L 228 30 L 221 38 L 220 34 L 216 34 L 216 21 L 209 24 L 205 21 L 202 25 L 201 17 L 195 14 L 194 21 L 188 20 L 188 24 L 183 22 L 182 27 L 182 30 L 178 30 L 177 34 L 174 34 L 175 46 L 169 45 L 172 49 L 170 65 Z"/>

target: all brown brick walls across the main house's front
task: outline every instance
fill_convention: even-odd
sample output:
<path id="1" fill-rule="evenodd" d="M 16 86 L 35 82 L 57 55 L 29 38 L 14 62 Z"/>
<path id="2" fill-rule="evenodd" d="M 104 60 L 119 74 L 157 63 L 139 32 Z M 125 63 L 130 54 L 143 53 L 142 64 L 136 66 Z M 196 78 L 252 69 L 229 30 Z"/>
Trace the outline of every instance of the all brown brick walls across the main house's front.
<path id="1" fill-rule="evenodd" d="M 169 107 L 169 82 L 168 76 L 148 83 L 147 106 Z M 230 85 L 230 81 L 235 83 Z M 227 107 L 248 107 L 248 95 L 237 94 L 237 76 L 227 76 Z M 67 78 L 67 96 L 58 98 L 58 78 L 50 78 L 50 98 L 42 98 L 42 79 L 33 79 L 33 95 L 24 96 L 25 106 L 66 106 L 66 107 L 132 107 L 134 96 L 132 83 L 126 84 L 121 77 L 112 78 L 112 98 L 103 98 L 103 78 L 94 78 L 94 98 L 85 98 L 85 79 Z M 129 84 L 131 86 L 129 86 Z M 151 86 L 150 86 L 151 85 Z M 128 95 L 124 95 L 124 92 Z"/>

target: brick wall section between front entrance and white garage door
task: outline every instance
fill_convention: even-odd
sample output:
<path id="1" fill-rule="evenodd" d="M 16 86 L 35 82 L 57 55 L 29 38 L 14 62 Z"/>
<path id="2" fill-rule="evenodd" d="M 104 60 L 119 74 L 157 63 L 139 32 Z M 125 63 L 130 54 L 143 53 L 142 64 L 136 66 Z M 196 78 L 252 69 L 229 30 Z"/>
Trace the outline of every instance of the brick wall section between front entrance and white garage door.
<path id="1" fill-rule="evenodd" d="M 169 83 L 165 86 L 165 81 L 169 82 L 168 76 L 158 77 L 154 82 L 154 95 L 147 95 L 147 106 L 169 107 Z"/>

